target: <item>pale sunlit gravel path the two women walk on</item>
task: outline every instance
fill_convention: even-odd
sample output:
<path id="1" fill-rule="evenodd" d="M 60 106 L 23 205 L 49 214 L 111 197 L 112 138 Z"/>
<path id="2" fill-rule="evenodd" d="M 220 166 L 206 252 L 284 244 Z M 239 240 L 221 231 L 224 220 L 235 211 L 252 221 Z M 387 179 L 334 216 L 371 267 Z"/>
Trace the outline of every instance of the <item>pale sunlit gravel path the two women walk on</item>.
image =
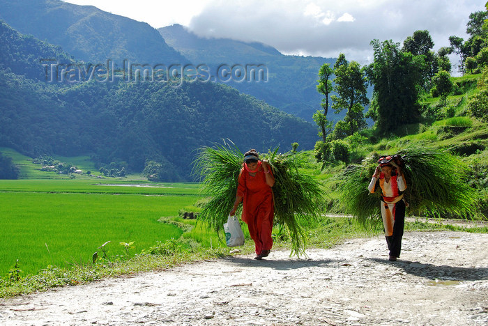
<path id="1" fill-rule="evenodd" d="M 488 325 L 488 234 L 412 232 L 0 300 L 0 325 Z"/>

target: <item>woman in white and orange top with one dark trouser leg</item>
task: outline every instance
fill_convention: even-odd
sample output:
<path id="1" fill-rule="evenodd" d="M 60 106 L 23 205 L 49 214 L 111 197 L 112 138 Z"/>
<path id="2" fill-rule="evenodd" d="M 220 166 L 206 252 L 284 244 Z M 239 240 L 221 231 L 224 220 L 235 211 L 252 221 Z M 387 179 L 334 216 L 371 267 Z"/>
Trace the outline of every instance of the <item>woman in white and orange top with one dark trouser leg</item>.
<path id="1" fill-rule="evenodd" d="M 406 189 L 405 177 L 399 164 L 393 162 L 393 157 L 382 156 L 378 160 L 369 192 L 374 192 L 376 182 L 381 187 L 381 217 L 385 228 L 386 244 L 390 250 L 389 261 L 396 261 L 402 249 L 402 237 L 405 222 L 405 200 L 402 192 Z"/>

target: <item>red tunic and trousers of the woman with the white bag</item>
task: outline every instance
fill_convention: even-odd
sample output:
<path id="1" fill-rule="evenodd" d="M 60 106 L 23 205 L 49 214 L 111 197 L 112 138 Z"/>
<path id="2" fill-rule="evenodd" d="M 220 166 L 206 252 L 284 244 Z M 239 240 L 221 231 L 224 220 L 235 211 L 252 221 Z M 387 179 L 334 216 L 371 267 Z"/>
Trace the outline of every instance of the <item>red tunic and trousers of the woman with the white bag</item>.
<path id="1" fill-rule="evenodd" d="M 269 173 L 272 173 L 271 170 Z M 247 224 L 249 233 L 256 246 L 256 254 L 273 247 L 273 190 L 266 184 L 266 175 L 260 168 L 255 176 L 241 169 L 237 195 L 243 197 L 242 219 Z"/>

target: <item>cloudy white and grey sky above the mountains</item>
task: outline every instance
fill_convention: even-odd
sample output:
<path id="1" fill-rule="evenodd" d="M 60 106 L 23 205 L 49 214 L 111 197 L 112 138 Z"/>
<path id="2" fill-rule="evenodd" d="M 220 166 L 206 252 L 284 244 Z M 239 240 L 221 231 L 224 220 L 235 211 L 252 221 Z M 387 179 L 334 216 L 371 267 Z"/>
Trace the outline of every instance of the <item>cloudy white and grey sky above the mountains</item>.
<path id="1" fill-rule="evenodd" d="M 403 42 L 427 29 L 434 50 L 466 36 L 486 0 L 67 0 L 147 22 L 188 26 L 199 36 L 258 41 L 284 54 L 372 61 L 373 39 Z M 454 63 L 454 62 L 453 62 Z"/>

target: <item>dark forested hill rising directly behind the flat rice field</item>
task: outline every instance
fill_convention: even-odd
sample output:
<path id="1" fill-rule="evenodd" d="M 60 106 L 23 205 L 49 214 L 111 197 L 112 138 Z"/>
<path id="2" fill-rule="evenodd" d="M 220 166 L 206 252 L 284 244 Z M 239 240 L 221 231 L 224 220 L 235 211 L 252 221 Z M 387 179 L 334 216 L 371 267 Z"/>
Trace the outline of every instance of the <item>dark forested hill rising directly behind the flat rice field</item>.
<path id="1" fill-rule="evenodd" d="M 114 162 L 132 171 L 153 160 L 169 171 L 167 180 L 189 180 L 200 146 L 231 139 L 241 150 L 262 152 L 278 145 L 289 150 L 296 141 L 306 150 L 317 139 L 312 124 L 229 86 L 47 83 L 30 63 L 44 54 L 59 61 L 69 54 L 7 24 L 0 24 L 0 44 L 9 51 L 0 56 L 0 146 L 24 155 L 91 154 L 99 165 Z M 44 72 L 41 65 L 39 70 Z"/>

